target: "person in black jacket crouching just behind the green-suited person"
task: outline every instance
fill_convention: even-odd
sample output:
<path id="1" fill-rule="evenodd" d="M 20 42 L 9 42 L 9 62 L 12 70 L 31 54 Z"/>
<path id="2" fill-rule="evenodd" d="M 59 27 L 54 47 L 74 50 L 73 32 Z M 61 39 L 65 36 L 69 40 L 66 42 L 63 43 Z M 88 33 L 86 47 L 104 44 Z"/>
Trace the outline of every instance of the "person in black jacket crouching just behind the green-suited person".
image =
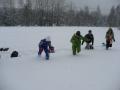
<path id="1" fill-rule="evenodd" d="M 84 36 L 86 38 L 86 46 L 85 49 L 94 49 L 94 36 L 92 34 L 92 30 L 88 31 L 88 34 Z"/>

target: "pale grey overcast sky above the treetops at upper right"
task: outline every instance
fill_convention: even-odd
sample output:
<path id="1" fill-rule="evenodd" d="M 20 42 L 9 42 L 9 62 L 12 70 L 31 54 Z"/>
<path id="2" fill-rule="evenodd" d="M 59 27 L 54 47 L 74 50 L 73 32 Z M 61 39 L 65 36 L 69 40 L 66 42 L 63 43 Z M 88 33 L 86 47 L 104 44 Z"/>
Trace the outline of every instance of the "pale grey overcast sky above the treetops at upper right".
<path id="1" fill-rule="evenodd" d="M 72 1 L 76 7 L 83 8 L 88 6 L 91 10 L 99 5 L 102 13 L 108 14 L 112 6 L 120 4 L 120 0 L 66 0 L 67 2 Z"/>

